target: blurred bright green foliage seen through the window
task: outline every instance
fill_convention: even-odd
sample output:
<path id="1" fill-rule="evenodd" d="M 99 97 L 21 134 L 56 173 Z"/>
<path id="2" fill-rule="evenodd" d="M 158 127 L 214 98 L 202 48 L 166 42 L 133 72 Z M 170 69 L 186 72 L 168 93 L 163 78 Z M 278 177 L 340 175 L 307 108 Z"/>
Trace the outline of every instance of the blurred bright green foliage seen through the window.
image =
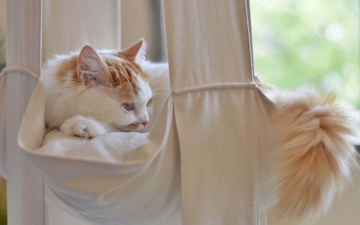
<path id="1" fill-rule="evenodd" d="M 255 73 L 315 85 L 360 109 L 359 0 L 250 0 Z"/>

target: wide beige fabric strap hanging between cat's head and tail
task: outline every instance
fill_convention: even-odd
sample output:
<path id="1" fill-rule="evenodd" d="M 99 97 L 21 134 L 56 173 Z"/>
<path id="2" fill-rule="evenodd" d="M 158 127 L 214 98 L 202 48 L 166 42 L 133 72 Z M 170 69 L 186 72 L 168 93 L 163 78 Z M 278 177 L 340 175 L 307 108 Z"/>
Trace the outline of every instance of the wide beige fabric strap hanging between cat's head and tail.
<path id="1" fill-rule="evenodd" d="M 252 83 L 247 4 L 164 1 L 183 224 L 258 224 L 267 114 Z"/>

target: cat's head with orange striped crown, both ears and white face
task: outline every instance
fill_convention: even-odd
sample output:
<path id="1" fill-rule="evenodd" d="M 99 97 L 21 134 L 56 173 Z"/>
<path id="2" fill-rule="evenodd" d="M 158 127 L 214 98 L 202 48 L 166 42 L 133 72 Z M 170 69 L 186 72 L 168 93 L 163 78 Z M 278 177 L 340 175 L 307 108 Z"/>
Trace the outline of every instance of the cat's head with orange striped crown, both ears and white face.
<path id="1" fill-rule="evenodd" d="M 78 84 L 86 86 L 87 104 L 93 99 L 92 109 L 85 114 L 123 131 L 145 129 L 153 97 L 149 75 L 140 66 L 145 49 L 146 43 L 140 40 L 125 51 L 96 51 L 90 46 L 81 50 Z"/>

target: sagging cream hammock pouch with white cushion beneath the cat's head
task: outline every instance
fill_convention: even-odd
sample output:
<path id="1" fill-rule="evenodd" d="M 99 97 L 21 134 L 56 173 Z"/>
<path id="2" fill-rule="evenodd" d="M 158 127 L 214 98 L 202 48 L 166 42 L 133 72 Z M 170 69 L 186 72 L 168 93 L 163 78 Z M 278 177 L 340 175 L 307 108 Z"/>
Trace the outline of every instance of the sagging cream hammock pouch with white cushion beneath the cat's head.
<path id="1" fill-rule="evenodd" d="M 171 98 L 149 135 L 109 133 L 84 140 L 64 138 L 55 130 L 34 151 L 27 137 L 41 129 L 42 120 L 34 115 L 41 116 L 44 108 L 31 106 L 43 91 L 38 85 L 30 100 L 19 144 L 39 170 L 52 201 L 98 224 L 181 224 L 179 147 Z"/>

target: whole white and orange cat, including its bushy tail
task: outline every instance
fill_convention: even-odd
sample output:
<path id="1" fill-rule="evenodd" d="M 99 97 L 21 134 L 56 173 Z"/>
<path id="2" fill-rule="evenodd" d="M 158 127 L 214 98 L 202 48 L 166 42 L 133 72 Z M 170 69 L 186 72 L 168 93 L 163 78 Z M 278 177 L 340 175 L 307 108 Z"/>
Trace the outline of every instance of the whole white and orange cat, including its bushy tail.
<path id="1" fill-rule="evenodd" d="M 144 40 L 125 51 L 85 46 L 50 60 L 42 69 L 46 125 L 83 138 L 143 131 L 153 111 L 150 77 L 142 68 L 145 48 Z M 325 213 L 350 180 L 357 154 L 347 135 L 354 134 L 354 123 L 331 95 L 256 82 L 276 105 L 276 147 L 260 155 L 260 210 L 271 225 L 304 224 Z"/>

